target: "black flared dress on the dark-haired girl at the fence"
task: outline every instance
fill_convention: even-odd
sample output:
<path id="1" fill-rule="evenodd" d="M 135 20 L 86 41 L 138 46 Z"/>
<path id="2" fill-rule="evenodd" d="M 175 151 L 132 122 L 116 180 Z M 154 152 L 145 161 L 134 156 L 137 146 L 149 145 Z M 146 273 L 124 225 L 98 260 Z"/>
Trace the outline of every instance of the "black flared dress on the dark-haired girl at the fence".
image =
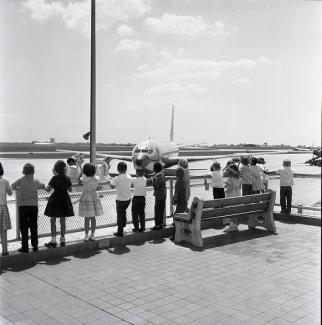
<path id="1" fill-rule="evenodd" d="M 70 178 L 65 175 L 55 175 L 48 183 L 54 189 L 45 209 L 48 217 L 70 217 L 74 215 L 73 205 L 67 190 L 72 186 Z"/>

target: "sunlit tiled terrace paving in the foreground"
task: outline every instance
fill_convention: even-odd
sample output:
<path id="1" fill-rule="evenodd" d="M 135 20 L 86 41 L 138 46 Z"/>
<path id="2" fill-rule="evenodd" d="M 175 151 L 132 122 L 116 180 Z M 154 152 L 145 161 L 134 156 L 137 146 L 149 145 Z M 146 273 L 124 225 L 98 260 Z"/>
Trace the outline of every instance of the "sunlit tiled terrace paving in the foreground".
<path id="1" fill-rule="evenodd" d="M 276 228 L 206 230 L 203 249 L 147 232 L 3 267 L 0 324 L 321 324 L 321 228 Z"/>

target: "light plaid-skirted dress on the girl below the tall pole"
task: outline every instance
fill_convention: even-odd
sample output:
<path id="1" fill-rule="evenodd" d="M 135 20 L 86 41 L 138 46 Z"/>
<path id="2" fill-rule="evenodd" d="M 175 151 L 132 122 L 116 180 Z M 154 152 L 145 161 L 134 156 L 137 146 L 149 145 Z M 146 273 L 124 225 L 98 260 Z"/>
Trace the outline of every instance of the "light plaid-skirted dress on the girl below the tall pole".
<path id="1" fill-rule="evenodd" d="M 79 200 L 78 215 L 80 217 L 96 217 L 103 215 L 101 201 L 97 195 L 99 177 L 83 176 L 83 192 Z"/>

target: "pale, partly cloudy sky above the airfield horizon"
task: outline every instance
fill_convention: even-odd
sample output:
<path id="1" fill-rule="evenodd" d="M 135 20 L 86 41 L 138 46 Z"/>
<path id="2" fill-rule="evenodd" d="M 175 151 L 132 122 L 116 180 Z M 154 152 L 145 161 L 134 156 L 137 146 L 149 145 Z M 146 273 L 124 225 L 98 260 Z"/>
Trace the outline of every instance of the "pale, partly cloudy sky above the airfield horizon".
<path id="1" fill-rule="evenodd" d="M 322 3 L 96 0 L 97 142 L 321 144 Z M 0 142 L 84 142 L 90 1 L 0 0 Z"/>

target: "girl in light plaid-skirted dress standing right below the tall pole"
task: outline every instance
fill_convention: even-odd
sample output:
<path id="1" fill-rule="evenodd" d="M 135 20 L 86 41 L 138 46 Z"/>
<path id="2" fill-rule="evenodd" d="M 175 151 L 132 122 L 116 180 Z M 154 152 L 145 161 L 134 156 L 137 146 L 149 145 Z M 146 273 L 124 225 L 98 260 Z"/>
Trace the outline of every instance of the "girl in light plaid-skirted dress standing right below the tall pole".
<path id="1" fill-rule="evenodd" d="M 101 201 L 97 195 L 99 177 L 95 175 L 96 167 L 93 164 L 83 166 L 83 192 L 79 200 L 78 215 L 84 217 L 85 238 L 84 241 L 95 240 L 96 216 L 103 215 Z M 88 236 L 89 224 L 91 235 Z"/>

